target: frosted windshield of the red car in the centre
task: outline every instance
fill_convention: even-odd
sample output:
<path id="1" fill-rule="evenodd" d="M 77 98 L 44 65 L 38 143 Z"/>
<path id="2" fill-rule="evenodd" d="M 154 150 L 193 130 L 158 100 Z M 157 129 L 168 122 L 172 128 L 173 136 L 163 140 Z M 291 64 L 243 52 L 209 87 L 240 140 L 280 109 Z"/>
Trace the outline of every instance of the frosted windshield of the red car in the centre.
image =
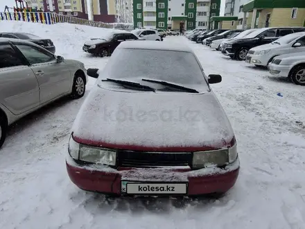
<path id="1" fill-rule="evenodd" d="M 121 80 L 149 78 L 179 85 L 202 85 L 209 90 L 195 56 L 184 51 L 116 49 L 103 74 Z"/>

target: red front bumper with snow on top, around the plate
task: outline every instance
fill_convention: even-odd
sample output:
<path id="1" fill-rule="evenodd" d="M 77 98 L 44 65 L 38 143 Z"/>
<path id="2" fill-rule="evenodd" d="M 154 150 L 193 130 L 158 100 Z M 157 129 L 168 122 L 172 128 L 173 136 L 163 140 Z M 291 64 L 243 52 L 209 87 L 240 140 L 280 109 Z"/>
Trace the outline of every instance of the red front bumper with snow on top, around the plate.
<path id="1" fill-rule="evenodd" d="M 239 159 L 225 169 L 206 168 L 191 169 L 136 169 L 136 168 L 103 168 L 96 165 L 81 166 L 68 155 L 67 171 L 71 181 L 80 189 L 104 194 L 127 195 L 122 192 L 122 181 L 139 183 L 186 183 L 187 193 L 182 196 L 227 192 L 238 178 Z M 153 196 L 158 196 L 153 194 Z M 168 194 L 171 196 L 171 194 Z"/>

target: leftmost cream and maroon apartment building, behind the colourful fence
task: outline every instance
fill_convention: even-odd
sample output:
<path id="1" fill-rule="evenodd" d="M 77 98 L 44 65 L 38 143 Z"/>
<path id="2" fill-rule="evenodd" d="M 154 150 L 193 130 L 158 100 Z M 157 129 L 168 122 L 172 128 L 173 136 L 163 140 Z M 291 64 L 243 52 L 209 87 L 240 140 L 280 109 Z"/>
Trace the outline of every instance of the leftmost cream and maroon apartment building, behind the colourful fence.
<path id="1" fill-rule="evenodd" d="M 28 7 L 88 19 L 87 0 L 28 0 Z"/>

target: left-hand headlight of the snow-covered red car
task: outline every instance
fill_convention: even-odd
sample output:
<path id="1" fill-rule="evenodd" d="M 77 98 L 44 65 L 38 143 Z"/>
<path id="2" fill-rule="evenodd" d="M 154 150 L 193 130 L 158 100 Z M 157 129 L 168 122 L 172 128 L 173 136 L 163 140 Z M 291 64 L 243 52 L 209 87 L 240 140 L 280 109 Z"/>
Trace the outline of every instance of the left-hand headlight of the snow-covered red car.
<path id="1" fill-rule="evenodd" d="M 69 139 L 68 151 L 71 158 L 75 160 L 112 166 L 116 165 L 116 151 L 79 144 L 74 141 L 72 135 Z"/>

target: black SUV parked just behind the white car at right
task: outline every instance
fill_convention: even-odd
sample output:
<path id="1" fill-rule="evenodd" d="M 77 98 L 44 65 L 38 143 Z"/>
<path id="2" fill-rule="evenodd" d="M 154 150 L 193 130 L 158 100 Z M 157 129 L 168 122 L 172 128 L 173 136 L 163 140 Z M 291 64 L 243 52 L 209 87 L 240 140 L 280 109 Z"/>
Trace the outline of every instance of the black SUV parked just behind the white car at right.
<path id="1" fill-rule="evenodd" d="M 260 28 L 241 39 L 234 39 L 223 45 L 222 53 L 232 59 L 245 60 L 247 52 L 259 45 L 269 44 L 290 33 L 304 32 L 304 27 Z"/>

